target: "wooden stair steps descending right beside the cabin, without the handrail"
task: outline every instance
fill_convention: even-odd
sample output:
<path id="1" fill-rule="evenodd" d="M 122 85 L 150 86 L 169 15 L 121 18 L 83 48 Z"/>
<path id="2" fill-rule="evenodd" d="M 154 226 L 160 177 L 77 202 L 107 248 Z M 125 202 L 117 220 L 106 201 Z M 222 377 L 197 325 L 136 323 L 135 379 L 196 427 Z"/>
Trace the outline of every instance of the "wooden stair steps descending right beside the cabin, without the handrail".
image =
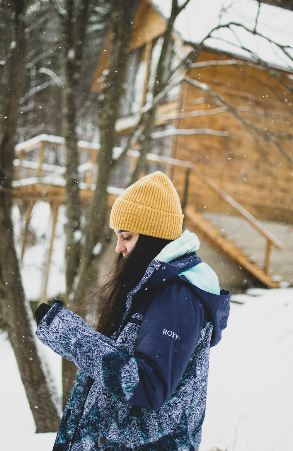
<path id="1" fill-rule="evenodd" d="M 222 253 L 230 262 L 239 266 L 240 269 L 250 272 L 252 276 L 256 277 L 264 285 L 270 288 L 279 288 L 279 281 L 274 281 L 274 276 L 266 272 L 265 264 L 261 265 L 251 261 L 251 258 L 246 255 L 243 249 L 237 247 L 234 241 L 229 241 L 223 237 L 220 230 L 213 226 L 209 220 L 205 219 L 202 213 L 195 212 L 194 207 L 191 205 L 186 205 L 184 213 L 189 230 L 194 231 Z"/>

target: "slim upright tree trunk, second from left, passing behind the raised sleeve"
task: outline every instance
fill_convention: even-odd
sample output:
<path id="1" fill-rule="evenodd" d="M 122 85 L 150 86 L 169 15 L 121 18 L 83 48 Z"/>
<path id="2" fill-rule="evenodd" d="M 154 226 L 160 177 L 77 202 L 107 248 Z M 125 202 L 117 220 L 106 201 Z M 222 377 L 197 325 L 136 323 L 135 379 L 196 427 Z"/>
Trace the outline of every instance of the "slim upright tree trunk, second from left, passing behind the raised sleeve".
<path id="1" fill-rule="evenodd" d="M 80 69 L 85 44 L 85 29 L 88 22 L 88 0 L 79 0 L 74 15 L 74 1 L 65 1 L 65 14 L 62 16 L 64 42 L 64 78 L 63 90 L 63 130 L 66 152 L 66 219 L 65 226 L 65 278 L 67 297 L 72 290 L 74 277 L 79 266 L 80 249 L 80 196 L 79 196 L 79 149 L 76 132 L 76 97 L 79 87 Z M 63 408 L 68 400 L 76 377 L 73 362 L 62 362 Z"/>

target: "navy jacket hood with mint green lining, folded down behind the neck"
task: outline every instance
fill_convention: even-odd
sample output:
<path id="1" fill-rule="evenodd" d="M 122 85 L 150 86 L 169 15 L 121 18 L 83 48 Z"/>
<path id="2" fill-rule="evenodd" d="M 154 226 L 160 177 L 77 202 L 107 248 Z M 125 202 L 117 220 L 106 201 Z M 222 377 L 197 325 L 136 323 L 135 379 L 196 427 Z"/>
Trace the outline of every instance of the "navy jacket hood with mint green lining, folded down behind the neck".
<path id="1" fill-rule="evenodd" d="M 220 290 L 215 272 L 196 255 L 199 247 L 198 237 L 185 230 L 178 239 L 163 248 L 156 260 L 168 263 L 169 271 L 165 275 L 169 280 L 175 277 L 176 268 L 177 276 L 190 283 L 196 298 L 205 306 L 208 320 L 213 323 L 211 346 L 214 346 L 221 340 L 222 330 L 227 326 L 230 293 Z"/>

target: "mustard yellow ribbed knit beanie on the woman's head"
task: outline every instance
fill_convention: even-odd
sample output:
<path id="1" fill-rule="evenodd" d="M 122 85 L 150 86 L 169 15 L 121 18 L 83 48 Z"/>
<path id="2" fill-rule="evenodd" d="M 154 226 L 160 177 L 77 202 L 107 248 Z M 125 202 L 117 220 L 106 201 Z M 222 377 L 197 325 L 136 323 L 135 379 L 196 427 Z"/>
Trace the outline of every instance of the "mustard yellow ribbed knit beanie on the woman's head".
<path id="1" fill-rule="evenodd" d="M 156 171 L 130 185 L 116 198 L 110 227 L 173 240 L 182 233 L 183 217 L 171 180 Z"/>

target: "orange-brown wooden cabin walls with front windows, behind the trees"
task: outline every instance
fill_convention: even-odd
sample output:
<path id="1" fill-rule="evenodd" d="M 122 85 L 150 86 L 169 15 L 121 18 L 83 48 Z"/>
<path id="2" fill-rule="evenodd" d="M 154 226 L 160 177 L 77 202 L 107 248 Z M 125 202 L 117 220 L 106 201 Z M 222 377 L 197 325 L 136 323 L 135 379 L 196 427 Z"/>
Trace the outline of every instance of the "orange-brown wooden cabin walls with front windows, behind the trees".
<path id="1" fill-rule="evenodd" d="M 118 145 L 129 135 L 148 101 L 148 84 L 154 82 L 154 68 L 166 23 L 166 18 L 152 1 L 141 2 L 130 44 L 120 119 L 116 123 Z M 107 69 L 109 41 L 110 35 L 98 62 L 93 83 L 96 92 L 102 87 L 103 71 Z M 175 30 L 170 65 L 192 45 L 183 41 Z M 249 258 L 242 258 L 242 251 L 235 243 L 233 249 L 229 249 L 231 241 L 228 244 L 220 242 L 222 238 L 227 241 L 229 225 L 232 234 L 233 228 L 239 228 L 232 221 L 234 214 L 246 217 L 245 212 L 248 212 L 246 221 L 260 235 L 262 230 L 258 221 L 274 221 L 279 224 L 276 230 L 292 224 L 293 73 L 285 70 L 277 73 L 275 68 L 264 68 L 237 55 L 202 47 L 186 76 L 190 82 L 183 81 L 174 87 L 158 107 L 153 133 L 152 153 L 162 156 L 165 161 L 172 158 L 173 163 L 171 160 L 170 164 L 147 161 L 145 172 L 160 169 L 171 176 L 186 207 L 186 225 L 195 227 L 194 230 L 209 244 L 242 270 Z M 173 134 L 174 129 L 177 134 Z M 182 164 L 176 165 L 175 160 Z M 124 164 L 125 174 L 128 174 L 130 163 L 125 161 Z M 114 177 L 113 184 L 119 186 L 121 179 L 123 168 L 117 173 L 116 180 Z M 222 215 L 221 221 L 214 216 L 218 229 L 209 222 L 213 215 Z M 290 227 L 287 230 L 290 231 Z M 288 240 L 292 246 L 290 233 Z M 253 237 L 250 232 L 247 234 L 246 240 Z M 265 241 L 260 239 L 260 249 L 266 247 L 264 265 L 254 258 L 250 262 L 252 267 L 257 266 L 265 273 L 268 273 L 271 246 L 281 247 L 279 240 L 270 241 L 269 235 L 262 235 Z M 292 260 L 289 262 L 287 279 L 293 283 Z M 253 274 L 247 265 L 246 270 Z M 253 275 L 258 277 L 256 273 Z"/>

